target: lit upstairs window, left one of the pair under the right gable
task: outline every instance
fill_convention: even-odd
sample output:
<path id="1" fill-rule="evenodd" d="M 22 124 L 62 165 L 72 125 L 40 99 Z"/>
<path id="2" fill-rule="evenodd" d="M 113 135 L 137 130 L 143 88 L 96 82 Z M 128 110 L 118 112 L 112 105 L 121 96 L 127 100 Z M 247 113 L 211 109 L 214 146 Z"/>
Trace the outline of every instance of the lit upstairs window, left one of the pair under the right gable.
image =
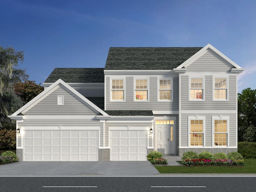
<path id="1" fill-rule="evenodd" d="M 191 100 L 203 100 L 204 85 L 203 78 L 191 78 L 190 79 L 190 99 Z"/>

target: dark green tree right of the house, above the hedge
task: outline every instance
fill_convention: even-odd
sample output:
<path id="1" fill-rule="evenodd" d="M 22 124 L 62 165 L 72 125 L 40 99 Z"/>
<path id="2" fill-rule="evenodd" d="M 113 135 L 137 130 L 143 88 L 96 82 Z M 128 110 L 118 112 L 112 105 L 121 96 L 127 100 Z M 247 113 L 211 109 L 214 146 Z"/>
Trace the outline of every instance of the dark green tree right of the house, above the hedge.
<path id="1" fill-rule="evenodd" d="M 244 140 L 250 125 L 256 126 L 256 90 L 247 88 L 238 94 L 238 141 Z"/>

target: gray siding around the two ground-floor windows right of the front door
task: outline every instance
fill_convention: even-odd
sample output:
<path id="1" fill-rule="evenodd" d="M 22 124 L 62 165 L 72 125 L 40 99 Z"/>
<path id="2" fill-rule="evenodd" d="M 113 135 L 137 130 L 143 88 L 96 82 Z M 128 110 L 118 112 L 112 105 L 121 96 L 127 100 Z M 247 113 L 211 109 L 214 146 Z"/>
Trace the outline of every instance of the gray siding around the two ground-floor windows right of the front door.
<path id="1" fill-rule="evenodd" d="M 205 144 L 204 147 L 212 147 L 212 116 L 229 116 L 229 144 L 228 146 L 236 146 L 236 114 L 197 114 L 198 116 L 205 116 Z M 187 147 L 188 144 L 188 116 L 195 116 L 195 114 L 181 115 L 181 146 Z"/>

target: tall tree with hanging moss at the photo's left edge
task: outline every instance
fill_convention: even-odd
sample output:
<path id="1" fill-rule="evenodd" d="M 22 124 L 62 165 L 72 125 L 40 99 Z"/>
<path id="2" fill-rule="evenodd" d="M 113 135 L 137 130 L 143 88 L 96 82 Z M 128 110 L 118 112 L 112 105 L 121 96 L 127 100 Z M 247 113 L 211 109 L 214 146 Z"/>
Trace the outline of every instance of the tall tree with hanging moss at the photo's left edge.
<path id="1" fill-rule="evenodd" d="M 8 120 L 8 114 L 18 108 L 19 98 L 16 97 L 13 84 L 25 80 L 25 70 L 16 69 L 19 62 L 24 61 L 24 52 L 12 47 L 0 46 L 0 120 Z M 15 107 L 16 106 L 16 107 Z M 0 124 L 1 126 L 1 124 Z"/>

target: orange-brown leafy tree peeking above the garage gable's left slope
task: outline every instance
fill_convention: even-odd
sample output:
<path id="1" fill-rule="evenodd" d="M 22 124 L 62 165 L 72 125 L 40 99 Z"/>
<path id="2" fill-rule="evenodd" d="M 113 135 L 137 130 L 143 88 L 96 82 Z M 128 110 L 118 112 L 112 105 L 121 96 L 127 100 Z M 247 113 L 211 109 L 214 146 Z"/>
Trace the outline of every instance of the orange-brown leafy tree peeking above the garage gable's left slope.
<path id="1" fill-rule="evenodd" d="M 26 104 L 40 94 L 44 90 L 44 87 L 41 86 L 41 84 L 36 84 L 35 81 L 26 80 L 25 82 L 14 84 L 14 89 L 16 94 L 20 96 L 24 104 Z"/>

